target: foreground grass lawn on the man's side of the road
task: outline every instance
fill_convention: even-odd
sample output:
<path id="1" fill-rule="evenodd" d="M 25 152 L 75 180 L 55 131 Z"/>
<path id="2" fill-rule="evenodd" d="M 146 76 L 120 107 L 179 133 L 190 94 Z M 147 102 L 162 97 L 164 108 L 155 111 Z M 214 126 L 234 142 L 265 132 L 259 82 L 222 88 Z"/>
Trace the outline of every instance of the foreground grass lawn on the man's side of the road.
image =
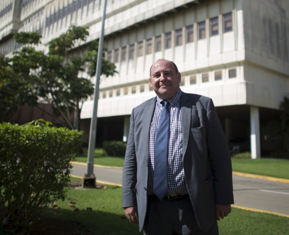
<path id="1" fill-rule="evenodd" d="M 80 181 L 77 178 L 71 180 Z M 89 230 L 88 233 L 71 231 L 67 234 L 140 234 L 138 226 L 129 223 L 124 218 L 121 195 L 122 188 L 114 186 L 107 186 L 106 189 L 86 190 L 70 188 L 66 199 L 56 202 L 60 208 L 43 208 L 40 215 L 46 219 L 57 219 L 63 226 L 67 226 L 71 222 L 81 225 L 84 230 Z M 76 208 L 77 211 L 75 211 Z M 87 208 L 91 208 L 91 211 L 87 211 Z M 238 208 L 232 208 L 231 214 L 218 223 L 220 235 L 281 235 L 286 234 L 289 228 L 289 218 L 249 212 Z M 50 226 L 47 229 L 54 228 Z M 66 229 L 72 228 L 66 227 Z"/>

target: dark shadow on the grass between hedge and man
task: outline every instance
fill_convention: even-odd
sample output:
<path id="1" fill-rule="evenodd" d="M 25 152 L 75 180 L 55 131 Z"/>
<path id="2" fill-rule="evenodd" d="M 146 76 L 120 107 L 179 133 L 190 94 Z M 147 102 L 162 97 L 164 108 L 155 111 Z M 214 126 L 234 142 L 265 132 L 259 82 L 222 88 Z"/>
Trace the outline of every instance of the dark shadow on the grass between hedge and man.
<path id="1" fill-rule="evenodd" d="M 41 208 L 31 235 L 135 235 L 138 225 L 124 216 L 99 211 Z"/>

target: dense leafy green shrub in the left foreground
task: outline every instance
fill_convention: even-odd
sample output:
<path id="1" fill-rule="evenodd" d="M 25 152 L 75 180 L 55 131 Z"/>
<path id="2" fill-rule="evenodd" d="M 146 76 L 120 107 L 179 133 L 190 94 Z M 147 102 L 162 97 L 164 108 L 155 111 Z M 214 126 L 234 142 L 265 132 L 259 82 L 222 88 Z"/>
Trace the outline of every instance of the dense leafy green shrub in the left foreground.
<path id="1" fill-rule="evenodd" d="M 82 133 L 40 123 L 0 124 L 0 230 L 7 233 L 29 230 L 37 207 L 65 198 Z"/>

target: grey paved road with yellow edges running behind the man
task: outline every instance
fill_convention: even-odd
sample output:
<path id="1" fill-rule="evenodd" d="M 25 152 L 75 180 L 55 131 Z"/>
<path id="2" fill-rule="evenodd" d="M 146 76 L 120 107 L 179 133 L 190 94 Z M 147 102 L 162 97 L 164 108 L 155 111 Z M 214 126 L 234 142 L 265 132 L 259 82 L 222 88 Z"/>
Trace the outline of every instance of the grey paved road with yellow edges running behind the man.
<path id="1" fill-rule="evenodd" d="M 73 163 L 71 175 L 83 177 L 86 164 Z M 101 184 L 122 186 L 123 169 L 94 166 Z M 234 207 L 289 218 L 289 180 L 234 172 Z"/>

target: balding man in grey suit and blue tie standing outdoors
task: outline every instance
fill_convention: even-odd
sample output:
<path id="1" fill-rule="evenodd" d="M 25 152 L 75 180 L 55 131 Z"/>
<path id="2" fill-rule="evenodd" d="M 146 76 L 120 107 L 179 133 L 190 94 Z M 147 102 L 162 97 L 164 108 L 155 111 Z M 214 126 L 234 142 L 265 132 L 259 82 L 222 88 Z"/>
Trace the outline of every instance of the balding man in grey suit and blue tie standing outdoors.
<path id="1" fill-rule="evenodd" d="M 127 219 L 147 235 L 218 234 L 216 221 L 233 203 L 230 154 L 212 100 L 182 92 L 180 82 L 173 62 L 152 65 L 150 83 L 157 96 L 131 114 L 123 207 Z M 165 137 L 159 140 L 158 132 Z M 165 160 L 157 165 L 162 155 Z"/>

